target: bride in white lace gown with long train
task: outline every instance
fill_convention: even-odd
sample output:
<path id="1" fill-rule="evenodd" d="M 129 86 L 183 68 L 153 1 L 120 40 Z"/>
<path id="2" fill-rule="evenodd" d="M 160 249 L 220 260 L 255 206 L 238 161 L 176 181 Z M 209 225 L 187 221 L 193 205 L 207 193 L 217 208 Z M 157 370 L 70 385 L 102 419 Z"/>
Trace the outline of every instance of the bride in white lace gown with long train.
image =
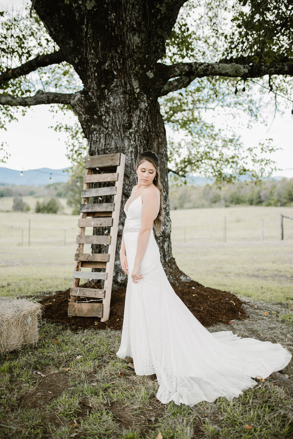
<path id="1" fill-rule="evenodd" d="M 159 158 L 137 158 L 137 185 L 124 211 L 120 249 L 128 275 L 121 345 L 117 356 L 137 375 L 156 374 L 162 403 L 193 406 L 219 396 L 231 400 L 286 367 L 291 353 L 271 342 L 241 338 L 232 331 L 210 333 L 175 294 L 160 262 L 152 227 L 159 235 L 163 202 Z"/>

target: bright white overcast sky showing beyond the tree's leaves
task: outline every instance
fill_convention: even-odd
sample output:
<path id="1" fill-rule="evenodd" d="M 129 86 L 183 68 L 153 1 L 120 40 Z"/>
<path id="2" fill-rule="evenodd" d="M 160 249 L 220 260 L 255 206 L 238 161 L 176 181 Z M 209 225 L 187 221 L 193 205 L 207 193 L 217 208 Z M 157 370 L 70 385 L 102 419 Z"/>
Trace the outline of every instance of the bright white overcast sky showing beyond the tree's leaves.
<path id="1" fill-rule="evenodd" d="M 0 0 L 2 7 L 11 8 L 22 7 L 22 0 Z M 289 97 L 291 99 L 293 97 Z M 279 98 L 282 103 L 282 98 Z M 284 101 L 284 107 L 288 103 Z M 233 111 L 233 109 L 231 109 Z M 57 121 L 64 120 L 62 115 L 54 115 L 49 112 L 46 105 L 37 105 L 28 110 L 27 115 L 20 117 L 19 122 L 11 122 L 7 126 L 7 131 L 0 131 L 0 143 L 6 141 L 8 152 L 11 157 L 7 163 L 0 163 L 11 169 L 36 169 L 48 167 L 52 169 L 61 169 L 70 166 L 66 158 L 65 139 L 66 136 L 61 133 L 55 133 L 48 128 Z M 273 119 L 273 112 L 271 120 Z M 269 118 L 270 120 L 270 118 Z M 282 175 L 293 178 L 293 119 L 291 119 L 291 110 L 288 108 L 284 115 L 277 114 L 268 133 L 268 127 L 260 123 L 251 129 L 242 128 L 240 134 L 245 146 L 255 144 L 258 140 L 264 140 L 271 137 L 274 145 L 282 148 L 277 151 L 272 158 L 277 162 L 277 166 L 282 169 L 275 175 Z"/>

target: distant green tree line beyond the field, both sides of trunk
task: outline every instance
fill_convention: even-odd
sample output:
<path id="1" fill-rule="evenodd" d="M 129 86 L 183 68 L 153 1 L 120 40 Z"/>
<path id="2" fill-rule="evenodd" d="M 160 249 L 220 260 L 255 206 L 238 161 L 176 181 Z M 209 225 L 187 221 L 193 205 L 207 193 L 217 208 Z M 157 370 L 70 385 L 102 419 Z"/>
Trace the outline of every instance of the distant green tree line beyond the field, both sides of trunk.
<path id="1" fill-rule="evenodd" d="M 54 183 L 46 186 L 2 186 L 1 197 L 14 197 L 13 210 L 28 212 L 29 206 L 22 196 L 45 198 L 36 203 L 36 213 L 62 212 L 58 198 L 66 198 L 72 208 L 72 215 L 80 213 L 82 185 L 72 178 L 67 183 Z M 293 206 L 293 179 L 285 177 L 279 181 L 264 180 L 256 185 L 253 182 L 237 182 L 219 188 L 216 184 L 182 185 L 170 184 L 170 209 L 197 209 L 208 207 L 229 207 L 232 205 L 254 206 Z"/>

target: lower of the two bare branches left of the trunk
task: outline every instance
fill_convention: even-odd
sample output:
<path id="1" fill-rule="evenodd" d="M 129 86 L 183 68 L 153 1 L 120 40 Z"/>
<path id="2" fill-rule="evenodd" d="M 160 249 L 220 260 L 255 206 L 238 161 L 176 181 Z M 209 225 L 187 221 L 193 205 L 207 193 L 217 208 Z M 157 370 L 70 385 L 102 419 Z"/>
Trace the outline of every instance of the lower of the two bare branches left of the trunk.
<path id="1" fill-rule="evenodd" d="M 75 94 L 51 93 L 38 90 L 34 96 L 19 97 L 11 94 L 0 94 L 0 105 L 29 107 L 40 104 L 66 104 L 71 105 Z"/>

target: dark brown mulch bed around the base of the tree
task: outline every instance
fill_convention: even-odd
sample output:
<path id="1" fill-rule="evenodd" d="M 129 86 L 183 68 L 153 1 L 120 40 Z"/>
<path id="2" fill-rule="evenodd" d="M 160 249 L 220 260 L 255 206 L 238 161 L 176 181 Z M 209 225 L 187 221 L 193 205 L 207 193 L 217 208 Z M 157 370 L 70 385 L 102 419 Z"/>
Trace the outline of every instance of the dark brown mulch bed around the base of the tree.
<path id="1" fill-rule="evenodd" d="M 206 327 L 246 318 L 242 308 L 245 302 L 228 291 L 206 288 L 195 281 L 184 282 L 179 287 L 172 286 L 192 314 Z M 112 290 L 110 318 L 107 322 L 101 322 L 99 317 L 69 317 L 67 307 L 70 289 L 56 291 L 54 295 L 46 296 L 39 302 L 44 306 L 44 318 L 66 324 L 72 331 L 88 328 L 122 330 L 125 292 L 126 288 Z"/>

